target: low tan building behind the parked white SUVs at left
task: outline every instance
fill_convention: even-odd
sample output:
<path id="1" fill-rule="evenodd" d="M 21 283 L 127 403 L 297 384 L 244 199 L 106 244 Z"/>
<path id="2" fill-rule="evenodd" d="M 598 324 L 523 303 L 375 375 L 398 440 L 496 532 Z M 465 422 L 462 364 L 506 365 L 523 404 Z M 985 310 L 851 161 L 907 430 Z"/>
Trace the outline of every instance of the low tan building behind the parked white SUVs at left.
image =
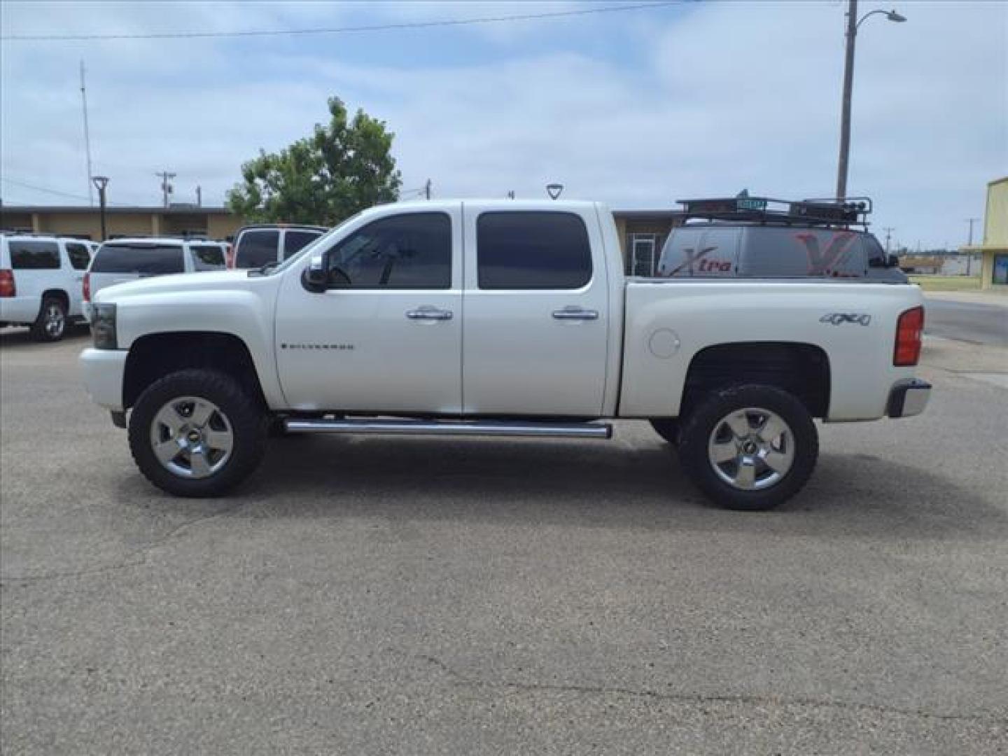
<path id="1" fill-rule="evenodd" d="M 173 205 L 169 208 L 106 208 L 105 230 L 110 239 L 124 236 L 197 236 L 227 239 L 242 219 L 225 208 Z M 82 206 L 0 206 L 0 229 L 76 236 L 102 241 L 98 208 Z"/>

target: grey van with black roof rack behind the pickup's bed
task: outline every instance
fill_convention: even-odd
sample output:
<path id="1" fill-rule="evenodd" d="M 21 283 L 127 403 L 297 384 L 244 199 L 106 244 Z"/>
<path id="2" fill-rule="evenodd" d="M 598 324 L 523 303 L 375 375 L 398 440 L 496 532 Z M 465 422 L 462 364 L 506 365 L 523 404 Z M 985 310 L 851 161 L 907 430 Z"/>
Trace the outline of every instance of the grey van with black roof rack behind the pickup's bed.
<path id="1" fill-rule="evenodd" d="M 686 208 L 687 222 L 665 241 L 659 276 L 907 282 L 896 256 L 887 255 L 868 231 L 867 198 L 843 204 L 764 198 L 680 204 Z"/>

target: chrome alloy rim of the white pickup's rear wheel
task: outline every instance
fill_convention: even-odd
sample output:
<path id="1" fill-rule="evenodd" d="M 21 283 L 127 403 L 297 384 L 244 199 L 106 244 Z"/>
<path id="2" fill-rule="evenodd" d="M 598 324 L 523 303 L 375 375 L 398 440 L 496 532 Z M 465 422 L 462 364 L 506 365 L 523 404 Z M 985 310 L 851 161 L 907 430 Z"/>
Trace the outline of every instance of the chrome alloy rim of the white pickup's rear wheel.
<path id="1" fill-rule="evenodd" d="M 742 491 L 758 491 L 779 483 L 791 469 L 794 433 L 775 412 L 746 407 L 718 420 L 707 449 L 721 480 Z"/>

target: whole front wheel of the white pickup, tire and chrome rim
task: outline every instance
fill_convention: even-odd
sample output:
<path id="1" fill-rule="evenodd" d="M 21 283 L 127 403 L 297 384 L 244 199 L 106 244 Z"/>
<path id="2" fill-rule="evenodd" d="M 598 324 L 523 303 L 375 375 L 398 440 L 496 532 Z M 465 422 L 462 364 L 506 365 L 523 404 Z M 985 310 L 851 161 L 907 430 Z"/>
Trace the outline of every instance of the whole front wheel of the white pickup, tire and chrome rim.
<path id="1" fill-rule="evenodd" d="M 133 407 L 129 446 L 140 472 L 176 496 L 219 496 L 258 466 L 267 415 L 234 378 L 182 370 L 152 383 Z"/>

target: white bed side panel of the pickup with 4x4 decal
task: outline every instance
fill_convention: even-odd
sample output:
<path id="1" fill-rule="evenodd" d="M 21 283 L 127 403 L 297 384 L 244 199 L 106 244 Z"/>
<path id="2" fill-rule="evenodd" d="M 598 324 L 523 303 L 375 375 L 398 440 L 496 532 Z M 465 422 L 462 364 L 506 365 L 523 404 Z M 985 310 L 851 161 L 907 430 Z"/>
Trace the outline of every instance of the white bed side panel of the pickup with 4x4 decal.
<path id="1" fill-rule="evenodd" d="M 626 289 L 621 416 L 676 416 L 694 357 L 721 344 L 820 347 L 830 361 L 830 420 L 882 417 L 892 386 L 915 372 L 894 367 L 892 354 L 899 314 L 923 302 L 917 286 L 630 279 Z"/>

